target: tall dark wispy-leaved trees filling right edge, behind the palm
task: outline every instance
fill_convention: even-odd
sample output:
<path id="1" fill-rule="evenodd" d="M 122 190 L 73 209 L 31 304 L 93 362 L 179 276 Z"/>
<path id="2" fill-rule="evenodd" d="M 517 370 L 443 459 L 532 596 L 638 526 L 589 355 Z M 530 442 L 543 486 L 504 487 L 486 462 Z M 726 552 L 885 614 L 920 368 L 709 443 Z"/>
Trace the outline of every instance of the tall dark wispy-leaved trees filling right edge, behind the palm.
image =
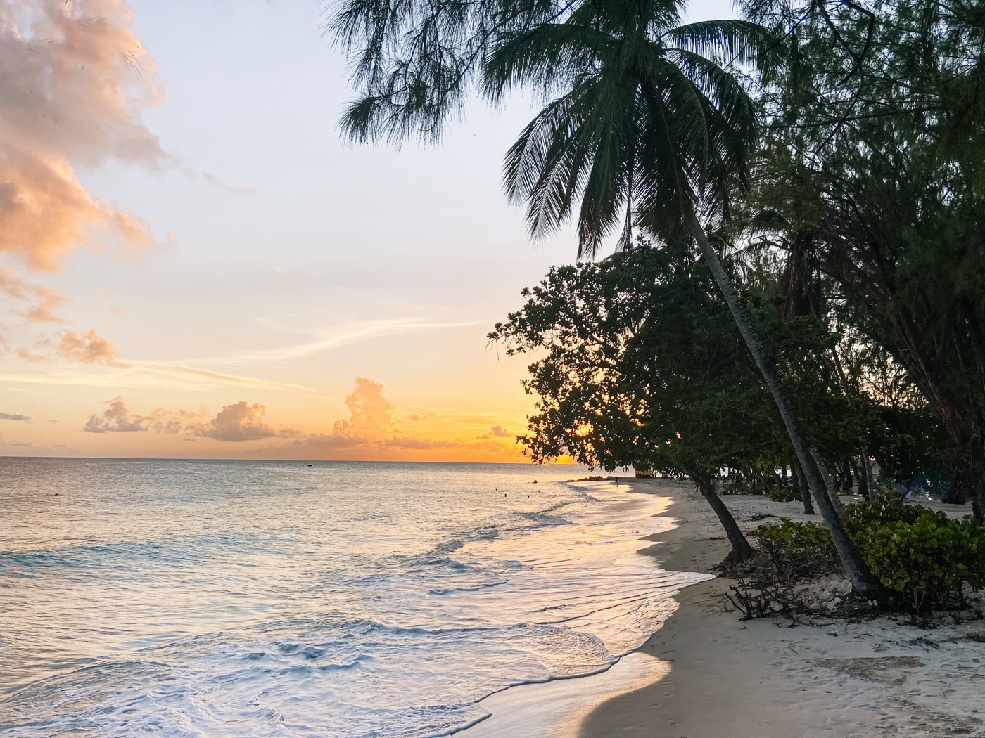
<path id="1" fill-rule="evenodd" d="M 825 8 L 744 4 L 789 50 L 755 81 L 763 144 L 747 235 L 827 282 L 845 338 L 867 338 L 883 367 L 906 375 L 916 389 L 906 403 L 948 447 L 922 470 L 893 468 L 924 432 L 876 423 L 866 440 L 880 465 L 906 486 L 924 476 L 983 520 L 982 11 L 911 0 Z M 865 368 L 846 371 L 863 394 Z"/>

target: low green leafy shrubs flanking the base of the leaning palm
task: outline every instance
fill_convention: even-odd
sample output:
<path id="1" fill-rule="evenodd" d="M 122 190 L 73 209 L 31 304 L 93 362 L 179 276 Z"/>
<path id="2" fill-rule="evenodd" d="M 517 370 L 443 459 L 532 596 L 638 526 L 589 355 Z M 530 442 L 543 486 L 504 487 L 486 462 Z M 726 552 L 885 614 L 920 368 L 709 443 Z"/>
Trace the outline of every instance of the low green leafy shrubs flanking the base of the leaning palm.
<path id="1" fill-rule="evenodd" d="M 873 574 L 914 610 L 938 607 L 952 595 L 963 602 L 965 584 L 985 586 L 985 527 L 976 521 L 891 499 L 850 505 L 842 521 Z M 774 562 L 803 577 L 836 561 L 831 536 L 817 523 L 783 520 L 753 535 Z"/>

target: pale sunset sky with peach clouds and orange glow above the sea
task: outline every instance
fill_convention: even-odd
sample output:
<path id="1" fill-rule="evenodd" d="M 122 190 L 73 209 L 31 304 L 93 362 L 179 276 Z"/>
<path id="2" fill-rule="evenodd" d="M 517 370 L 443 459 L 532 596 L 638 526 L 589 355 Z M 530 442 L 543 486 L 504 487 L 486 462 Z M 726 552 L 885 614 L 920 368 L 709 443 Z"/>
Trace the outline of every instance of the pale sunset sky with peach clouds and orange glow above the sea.
<path id="1" fill-rule="evenodd" d="M 0 455 L 523 461 L 532 100 L 354 147 L 317 0 L 0 0 Z M 692 20 L 728 17 L 722 0 Z"/>

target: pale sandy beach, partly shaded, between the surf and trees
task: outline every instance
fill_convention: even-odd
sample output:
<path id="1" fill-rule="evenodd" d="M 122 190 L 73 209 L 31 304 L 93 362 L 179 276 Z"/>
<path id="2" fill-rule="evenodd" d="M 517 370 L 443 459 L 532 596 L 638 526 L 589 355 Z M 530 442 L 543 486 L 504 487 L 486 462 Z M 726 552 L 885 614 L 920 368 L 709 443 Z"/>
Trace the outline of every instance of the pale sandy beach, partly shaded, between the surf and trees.
<path id="1" fill-rule="evenodd" d="M 669 571 L 708 572 L 728 552 L 685 483 L 634 480 L 667 495 L 678 527 L 645 552 Z M 745 528 L 803 520 L 799 503 L 726 496 Z M 963 511 L 957 506 L 952 514 Z M 754 520 L 757 519 L 757 520 Z M 739 620 L 730 581 L 683 589 L 674 615 L 609 672 L 494 695 L 467 738 L 797 738 L 985 736 L 985 621 L 923 630 L 883 617 L 786 627 Z M 903 619 L 905 620 L 905 619 Z"/>

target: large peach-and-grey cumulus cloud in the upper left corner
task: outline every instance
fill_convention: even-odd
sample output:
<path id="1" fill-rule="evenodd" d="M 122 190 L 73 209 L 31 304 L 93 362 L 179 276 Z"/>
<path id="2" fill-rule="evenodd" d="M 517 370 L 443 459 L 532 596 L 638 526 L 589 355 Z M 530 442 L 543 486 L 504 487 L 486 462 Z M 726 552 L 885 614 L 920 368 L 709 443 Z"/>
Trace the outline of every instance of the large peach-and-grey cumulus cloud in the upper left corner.
<path id="1" fill-rule="evenodd" d="M 109 236 L 124 250 L 148 223 L 95 197 L 75 166 L 171 159 L 140 120 L 158 105 L 157 64 L 125 0 L 0 0 L 0 252 L 58 269 Z"/>

